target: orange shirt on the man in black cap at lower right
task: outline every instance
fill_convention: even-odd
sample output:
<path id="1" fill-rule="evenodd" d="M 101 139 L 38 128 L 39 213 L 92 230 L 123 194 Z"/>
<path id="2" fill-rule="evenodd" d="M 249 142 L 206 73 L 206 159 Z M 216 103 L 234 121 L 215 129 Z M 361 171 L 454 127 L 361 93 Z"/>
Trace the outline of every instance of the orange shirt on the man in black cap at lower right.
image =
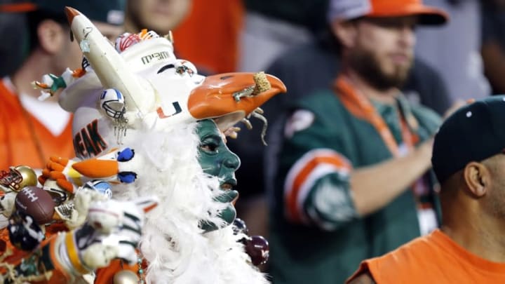
<path id="1" fill-rule="evenodd" d="M 505 283 L 505 263 L 490 262 L 436 229 L 382 257 L 363 261 L 346 283 L 370 271 L 381 283 Z"/>

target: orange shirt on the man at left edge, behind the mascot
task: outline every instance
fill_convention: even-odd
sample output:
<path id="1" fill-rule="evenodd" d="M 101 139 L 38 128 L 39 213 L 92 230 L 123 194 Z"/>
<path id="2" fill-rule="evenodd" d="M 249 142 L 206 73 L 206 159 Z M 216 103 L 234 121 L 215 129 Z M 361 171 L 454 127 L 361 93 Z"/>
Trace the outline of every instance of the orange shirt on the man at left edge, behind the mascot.
<path id="1" fill-rule="evenodd" d="M 41 161 L 37 142 L 45 161 Z M 50 156 L 75 156 L 72 119 L 60 135 L 53 135 L 32 114 L 25 114 L 18 96 L 0 80 L 0 170 L 8 170 L 11 165 L 44 168 Z"/>

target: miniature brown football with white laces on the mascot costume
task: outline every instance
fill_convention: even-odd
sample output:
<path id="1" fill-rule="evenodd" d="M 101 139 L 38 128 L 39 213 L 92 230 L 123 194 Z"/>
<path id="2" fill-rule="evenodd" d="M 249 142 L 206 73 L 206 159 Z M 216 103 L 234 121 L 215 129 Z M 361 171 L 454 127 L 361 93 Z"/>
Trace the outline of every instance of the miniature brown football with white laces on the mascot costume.
<path id="1" fill-rule="evenodd" d="M 34 217 L 37 224 L 46 224 L 53 219 L 55 203 L 40 187 L 25 187 L 16 196 L 15 207 Z"/>

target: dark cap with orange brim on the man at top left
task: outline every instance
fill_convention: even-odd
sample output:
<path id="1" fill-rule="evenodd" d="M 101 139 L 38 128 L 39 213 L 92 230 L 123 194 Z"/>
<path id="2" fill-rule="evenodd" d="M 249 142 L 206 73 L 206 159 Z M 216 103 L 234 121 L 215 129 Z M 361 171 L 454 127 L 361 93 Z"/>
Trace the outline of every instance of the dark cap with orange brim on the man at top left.
<path id="1" fill-rule="evenodd" d="M 111 25 L 123 25 L 125 0 L 25 0 L 0 4 L 3 13 L 39 11 L 60 16 L 66 20 L 65 6 L 76 8 L 90 20 Z"/>

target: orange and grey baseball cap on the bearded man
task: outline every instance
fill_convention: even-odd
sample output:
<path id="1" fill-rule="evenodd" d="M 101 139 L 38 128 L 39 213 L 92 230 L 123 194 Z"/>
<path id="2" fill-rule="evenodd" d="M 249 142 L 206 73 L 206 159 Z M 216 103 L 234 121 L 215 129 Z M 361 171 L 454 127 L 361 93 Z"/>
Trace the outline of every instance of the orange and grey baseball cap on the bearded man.
<path id="1" fill-rule="evenodd" d="M 449 19 L 444 11 L 426 6 L 422 0 L 331 0 L 328 21 L 360 17 L 419 16 L 419 25 L 442 25 Z"/>

